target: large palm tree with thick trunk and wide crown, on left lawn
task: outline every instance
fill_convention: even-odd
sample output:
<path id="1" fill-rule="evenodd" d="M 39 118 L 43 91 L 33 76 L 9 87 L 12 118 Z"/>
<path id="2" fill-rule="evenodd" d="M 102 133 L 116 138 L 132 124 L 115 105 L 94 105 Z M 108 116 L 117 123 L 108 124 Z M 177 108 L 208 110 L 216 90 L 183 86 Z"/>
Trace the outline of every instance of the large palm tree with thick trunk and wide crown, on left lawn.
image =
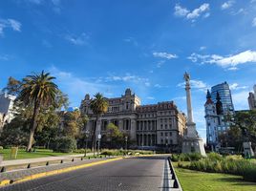
<path id="1" fill-rule="evenodd" d="M 27 75 L 22 80 L 21 91 L 18 99 L 25 106 L 32 106 L 32 121 L 30 126 L 30 138 L 27 151 L 32 149 L 33 135 L 37 127 L 37 116 L 42 107 L 48 107 L 55 104 L 55 96 L 58 92 L 57 85 L 53 83 L 55 77 L 50 73 Z"/>

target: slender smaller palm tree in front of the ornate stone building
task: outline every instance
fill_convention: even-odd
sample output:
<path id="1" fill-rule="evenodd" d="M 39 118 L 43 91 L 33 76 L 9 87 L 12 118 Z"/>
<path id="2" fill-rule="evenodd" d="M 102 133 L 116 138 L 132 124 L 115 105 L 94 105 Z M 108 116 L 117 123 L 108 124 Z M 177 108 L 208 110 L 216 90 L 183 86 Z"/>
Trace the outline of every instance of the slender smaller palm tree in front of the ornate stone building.
<path id="1" fill-rule="evenodd" d="M 108 101 L 106 100 L 106 98 L 103 95 L 101 95 L 100 93 L 96 93 L 95 98 L 90 103 L 90 108 L 92 109 L 93 113 L 96 115 L 96 124 L 97 124 L 98 118 L 108 111 L 108 106 L 109 106 L 109 104 L 108 104 Z M 95 153 L 96 153 L 96 125 L 94 126 L 92 139 L 93 139 L 92 149 L 94 150 L 94 156 L 95 156 Z"/>

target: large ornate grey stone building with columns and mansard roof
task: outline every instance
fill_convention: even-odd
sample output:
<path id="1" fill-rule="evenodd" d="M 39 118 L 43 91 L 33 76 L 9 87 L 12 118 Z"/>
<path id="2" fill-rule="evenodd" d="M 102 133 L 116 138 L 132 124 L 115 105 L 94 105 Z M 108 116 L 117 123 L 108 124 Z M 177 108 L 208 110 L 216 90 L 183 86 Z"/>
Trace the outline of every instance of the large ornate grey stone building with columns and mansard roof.
<path id="1" fill-rule="evenodd" d="M 108 123 L 117 125 L 120 131 L 139 147 L 168 147 L 172 150 L 181 149 L 181 138 L 185 130 L 186 117 L 173 101 L 164 101 L 152 105 L 140 105 L 139 96 L 132 94 L 130 89 L 124 96 L 106 98 L 109 102 L 108 112 L 96 123 L 96 116 L 90 109 L 90 96 L 86 95 L 81 102 L 80 111 L 90 120 L 87 130 L 92 132 L 98 125 L 96 135 L 106 134 Z"/>

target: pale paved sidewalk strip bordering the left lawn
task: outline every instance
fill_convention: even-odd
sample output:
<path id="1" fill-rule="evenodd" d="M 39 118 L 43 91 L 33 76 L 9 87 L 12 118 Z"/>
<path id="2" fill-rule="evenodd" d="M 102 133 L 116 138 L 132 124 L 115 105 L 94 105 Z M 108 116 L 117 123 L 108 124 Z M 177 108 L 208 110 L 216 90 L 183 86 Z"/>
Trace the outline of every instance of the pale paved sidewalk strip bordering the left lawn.
<path id="1" fill-rule="evenodd" d="M 93 156 L 93 153 L 88 153 L 87 156 Z M 0 163 L 0 166 L 13 166 L 13 165 L 22 165 L 29 163 L 37 163 L 37 162 L 46 162 L 53 160 L 61 160 L 61 159 L 72 159 L 72 158 L 81 158 L 84 157 L 84 154 L 76 154 L 76 155 L 67 155 L 61 157 L 46 157 L 46 158 L 35 158 L 35 159 L 11 159 L 11 160 L 3 160 Z"/>

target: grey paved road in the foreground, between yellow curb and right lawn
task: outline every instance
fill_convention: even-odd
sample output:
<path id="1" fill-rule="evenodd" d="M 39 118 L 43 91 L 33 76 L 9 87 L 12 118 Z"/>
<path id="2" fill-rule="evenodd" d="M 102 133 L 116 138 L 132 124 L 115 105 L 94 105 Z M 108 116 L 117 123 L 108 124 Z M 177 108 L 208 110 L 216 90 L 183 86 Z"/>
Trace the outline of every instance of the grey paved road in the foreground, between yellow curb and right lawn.
<path id="1" fill-rule="evenodd" d="M 162 190 L 165 159 L 166 157 L 121 159 L 69 173 L 13 184 L 0 190 Z"/>

